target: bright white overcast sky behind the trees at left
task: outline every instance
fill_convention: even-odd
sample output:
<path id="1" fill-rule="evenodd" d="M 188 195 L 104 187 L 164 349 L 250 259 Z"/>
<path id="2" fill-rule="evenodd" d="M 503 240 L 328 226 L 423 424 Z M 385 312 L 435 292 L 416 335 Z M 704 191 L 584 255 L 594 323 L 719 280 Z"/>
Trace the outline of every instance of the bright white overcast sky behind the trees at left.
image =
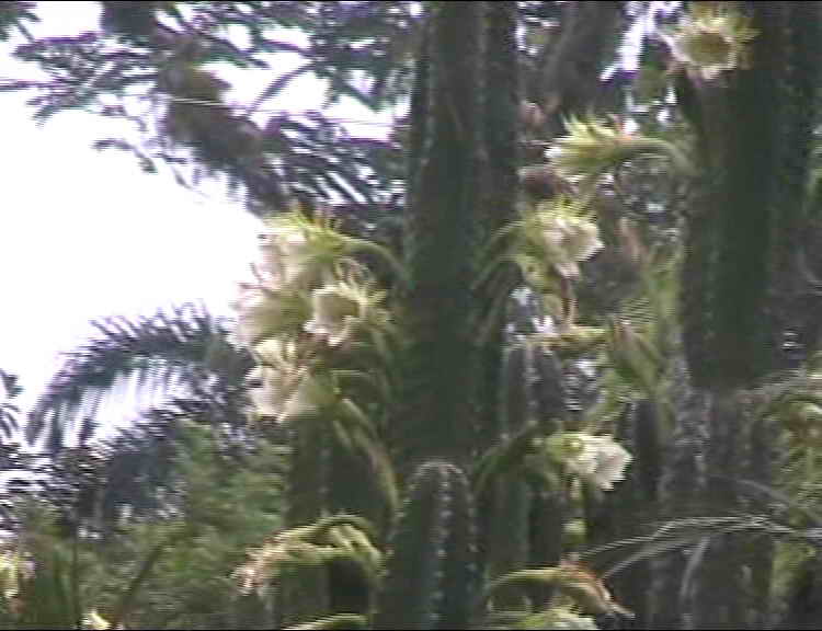
<path id="1" fill-rule="evenodd" d="M 39 4 L 38 34 L 93 28 L 99 11 L 96 2 Z M 0 48 L 0 77 L 23 72 L 32 71 Z M 263 87 L 243 82 L 246 94 L 235 97 L 253 97 Z M 290 104 L 318 108 L 321 96 L 316 82 L 304 80 Z M 60 114 L 38 128 L 23 101 L 0 94 L 0 367 L 20 375 L 27 406 L 59 367 L 59 354 L 93 332 L 92 319 L 199 300 L 230 314 L 260 223 L 219 184 L 186 191 L 169 174 L 141 173 L 129 156 L 91 149 L 119 130 L 101 118 Z M 366 116 L 352 105 L 335 114 Z"/>

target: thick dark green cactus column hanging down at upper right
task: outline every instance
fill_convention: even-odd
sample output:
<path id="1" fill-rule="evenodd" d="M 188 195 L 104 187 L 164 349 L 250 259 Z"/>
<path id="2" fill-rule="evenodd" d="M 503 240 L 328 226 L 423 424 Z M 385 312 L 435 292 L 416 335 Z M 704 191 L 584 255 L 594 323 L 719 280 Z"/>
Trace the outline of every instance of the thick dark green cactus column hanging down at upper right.
<path id="1" fill-rule="evenodd" d="M 795 267 L 819 83 L 818 4 L 740 4 L 756 33 L 750 65 L 680 83 L 705 164 L 686 244 L 686 356 L 695 385 L 711 388 L 776 366 L 769 332 L 781 334 L 777 288 Z"/>

